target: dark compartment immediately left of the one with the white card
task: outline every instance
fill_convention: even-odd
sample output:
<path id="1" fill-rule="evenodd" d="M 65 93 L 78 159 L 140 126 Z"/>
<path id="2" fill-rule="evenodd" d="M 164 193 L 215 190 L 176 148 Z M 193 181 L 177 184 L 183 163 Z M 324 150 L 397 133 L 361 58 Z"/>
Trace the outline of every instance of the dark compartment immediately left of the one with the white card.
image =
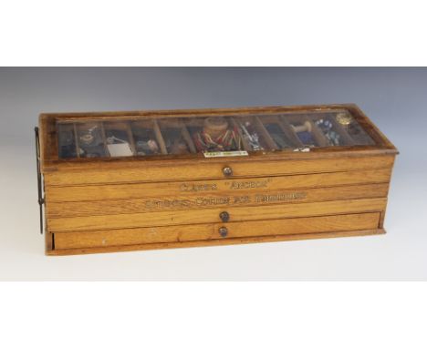
<path id="1" fill-rule="evenodd" d="M 76 123 L 76 132 L 80 158 L 106 156 L 103 128 L 100 122 Z"/>

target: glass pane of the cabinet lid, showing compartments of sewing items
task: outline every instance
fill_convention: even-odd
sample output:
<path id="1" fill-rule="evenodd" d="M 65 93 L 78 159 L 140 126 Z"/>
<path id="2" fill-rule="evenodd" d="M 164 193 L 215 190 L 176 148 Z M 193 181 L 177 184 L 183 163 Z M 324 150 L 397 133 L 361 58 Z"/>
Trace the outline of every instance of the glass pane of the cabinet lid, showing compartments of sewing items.
<path id="1" fill-rule="evenodd" d="M 253 151 L 304 151 L 375 145 L 347 110 L 280 115 L 57 120 L 59 159 Z"/>

